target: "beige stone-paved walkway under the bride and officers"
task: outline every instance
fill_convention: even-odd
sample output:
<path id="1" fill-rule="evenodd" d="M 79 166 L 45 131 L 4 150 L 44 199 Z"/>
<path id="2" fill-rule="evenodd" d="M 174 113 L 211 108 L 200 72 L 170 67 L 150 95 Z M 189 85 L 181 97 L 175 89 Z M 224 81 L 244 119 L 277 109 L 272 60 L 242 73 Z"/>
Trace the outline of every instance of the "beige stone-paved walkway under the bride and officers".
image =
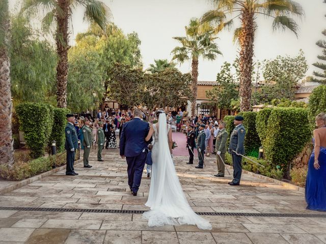
<path id="1" fill-rule="evenodd" d="M 60 171 L 0 196 L 0 206 L 146 210 L 150 179 L 144 172 L 137 197 L 127 185 L 126 163 L 118 150 L 104 150 L 105 162 L 93 168 L 75 166 L 78 176 Z M 309 213 L 304 194 L 243 174 L 241 186 L 227 184 L 230 176 L 213 177 L 214 157 L 199 170 L 175 157 L 176 169 L 195 211 L 248 213 Z M 232 171 L 231 171 L 232 174 Z M 326 243 L 326 218 L 204 216 L 213 226 L 149 228 L 138 214 L 0 210 L 2 243 Z"/>

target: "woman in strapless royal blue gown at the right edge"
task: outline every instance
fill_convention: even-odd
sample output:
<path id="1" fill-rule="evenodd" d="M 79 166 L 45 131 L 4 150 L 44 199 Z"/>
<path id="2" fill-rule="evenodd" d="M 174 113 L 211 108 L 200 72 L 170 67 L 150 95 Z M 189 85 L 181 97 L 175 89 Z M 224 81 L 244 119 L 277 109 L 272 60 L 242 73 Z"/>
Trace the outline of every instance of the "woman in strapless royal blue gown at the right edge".
<path id="1" fill-rule="evenodd" d="M 308 163 L 306 180 L 307 209 L 326 211 L 326 114 L 316 116 L 314 151 Z"/>

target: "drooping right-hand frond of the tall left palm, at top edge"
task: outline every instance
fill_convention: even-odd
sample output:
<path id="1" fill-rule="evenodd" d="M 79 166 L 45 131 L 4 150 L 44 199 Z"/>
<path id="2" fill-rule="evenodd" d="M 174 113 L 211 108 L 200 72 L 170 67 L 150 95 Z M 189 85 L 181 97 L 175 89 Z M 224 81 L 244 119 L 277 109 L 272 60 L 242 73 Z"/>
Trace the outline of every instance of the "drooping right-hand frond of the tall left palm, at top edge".
<path id="1" fill-rule="evenodd" d="M 98 24 L 103 30 L 107 24 L 111 24 L 112 13 L 104 3 L 100 1 L 89 1 L 86 6 L 84 20 Z"/>

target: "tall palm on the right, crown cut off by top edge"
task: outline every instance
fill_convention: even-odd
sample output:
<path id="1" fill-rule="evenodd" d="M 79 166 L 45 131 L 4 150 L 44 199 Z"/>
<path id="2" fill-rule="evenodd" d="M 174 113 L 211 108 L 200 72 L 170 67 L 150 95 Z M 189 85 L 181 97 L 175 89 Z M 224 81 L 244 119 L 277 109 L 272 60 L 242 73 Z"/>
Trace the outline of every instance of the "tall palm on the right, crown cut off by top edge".
<path id="1" fill-rule="evenodd" d="M 296 36 L 298 25 L 291 15 L 301 17 L 304 10 L 300 4 L 292 0 L 211 0 L 215 9 L 206 12 L 201 19 L 202 23 L 214 24 L 214 33 L 223 28 L 230 28 L 233 20 L 239 18 L 241 27 L 235 29 L 234 39 L 240 44 L 240 109 L 250 110 L 251 81 L 254 55 L 254 37 L 257 29 L 255 19 L 262 15 L 271 17 L 273 30 L 290 29 Z M 227 19 L 230 15 L 230 19 Z"/>

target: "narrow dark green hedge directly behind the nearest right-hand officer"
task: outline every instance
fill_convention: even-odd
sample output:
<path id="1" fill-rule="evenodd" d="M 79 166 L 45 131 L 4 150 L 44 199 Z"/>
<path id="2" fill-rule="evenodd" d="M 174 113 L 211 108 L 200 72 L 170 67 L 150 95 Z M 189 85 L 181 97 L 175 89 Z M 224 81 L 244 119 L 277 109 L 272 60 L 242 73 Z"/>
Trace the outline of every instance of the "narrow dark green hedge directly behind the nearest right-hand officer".
<path id="1" fill-rule="evenodd" d="M 244 138 L 244 149 L 249 156 L 258 158 L 258 150 L 261 145 L 258 132 L 256 130 L 257 112 L 240 112 L 243 120 L 243 127 L 246 129 L 246 137 Z"/>

